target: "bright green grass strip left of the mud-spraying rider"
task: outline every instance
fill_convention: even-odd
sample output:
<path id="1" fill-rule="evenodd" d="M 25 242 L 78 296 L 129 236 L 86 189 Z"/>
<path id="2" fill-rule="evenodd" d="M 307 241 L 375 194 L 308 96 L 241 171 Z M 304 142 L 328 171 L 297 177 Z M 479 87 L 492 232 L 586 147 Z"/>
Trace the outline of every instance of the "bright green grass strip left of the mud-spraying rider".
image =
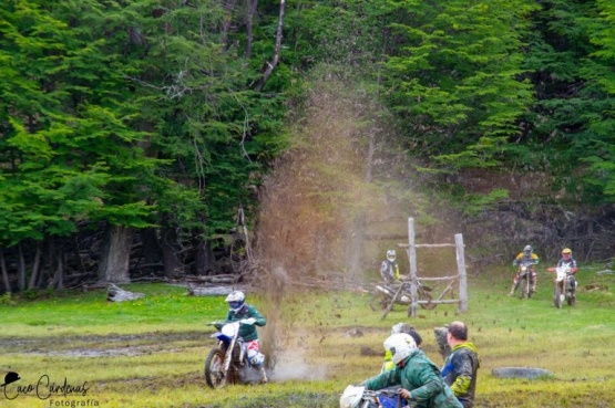
<path id="1" fill-rule="evenodd" d="M 194 329 L 195 323 L 208 322 L 207 318 L 226 313 L 222 296 L 187 296 L 183 287 L 161 284 L 135 284 L 124 289 L 145 293 L 145 297 L 113 303 L 106 302 L 106 291 L 66 292 L 37 301 L 13 302 L 13 306 L 0 305 L 2 323 L 13 327 L 14 333 L 31 336 L 47 336 L 49 331 L 57 331 L 54 335 L 142 333 Z M 37 328 L 39 326 L 45 329 Z"/>

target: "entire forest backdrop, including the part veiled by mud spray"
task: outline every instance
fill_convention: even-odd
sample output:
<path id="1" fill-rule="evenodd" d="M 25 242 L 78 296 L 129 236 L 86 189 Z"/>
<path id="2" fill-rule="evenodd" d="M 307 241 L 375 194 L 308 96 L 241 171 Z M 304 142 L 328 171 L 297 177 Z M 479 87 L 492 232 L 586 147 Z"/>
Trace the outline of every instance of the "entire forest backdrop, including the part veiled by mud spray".
<path id="1" fill-rule="evenodd" d="M 609 0 L 4 0 L 0 293 L 615 248 Z"/>

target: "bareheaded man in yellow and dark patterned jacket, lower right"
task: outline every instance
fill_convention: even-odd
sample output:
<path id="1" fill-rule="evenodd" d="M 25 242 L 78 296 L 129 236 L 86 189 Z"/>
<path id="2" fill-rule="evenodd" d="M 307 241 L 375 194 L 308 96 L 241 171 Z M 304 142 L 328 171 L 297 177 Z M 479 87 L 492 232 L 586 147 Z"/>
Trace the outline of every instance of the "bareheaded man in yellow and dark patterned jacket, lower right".
<path id="1" fill-rule="evenodd" d="M 449 325 L 447 339 L 452 352 L 442 367 L 442 377 L 463 408 L 471 408 L 474 406 L 479 353 L 468 342 L 468 326 L 463 322 L 452 322 Z"/>

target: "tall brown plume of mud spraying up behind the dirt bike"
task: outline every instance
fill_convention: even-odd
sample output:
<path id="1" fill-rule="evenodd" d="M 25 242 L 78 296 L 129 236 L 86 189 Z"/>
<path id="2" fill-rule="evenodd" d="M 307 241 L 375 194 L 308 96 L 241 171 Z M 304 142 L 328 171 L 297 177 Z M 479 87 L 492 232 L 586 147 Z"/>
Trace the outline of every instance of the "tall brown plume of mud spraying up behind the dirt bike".
<path id="1" fill-rule="evenodd" d="M 316 322 L 308 320 L 308 311 L 301 314 L 297 303 L 315 283 L 322 290 L 340 281 L 359 284 L 366 270 L 377 271 L 389 243 L 365 245 L 366 228 L 382 226 L 396 213 L 407 217 L 421 202 L 408 192 L 410 186 L 398 181 L 409 178 L 396 174 L 396 166 L 407 167 L 386 157 L 390 149 L 379 147 L 390 128 L 381 126 L 387 121 L 373 98 L 342 83 L 318 83 L 324 85 L 309 93 L 300 117 L 293 121 L 293 148 L 278 159 L 260 196 L 256 255 L 268 321 L 262 338 L 277 381 L 327 376 L 326 367 L 308 355 L 314 333 L 306 333 L 305 326 Z M 375 178 L 385 181 L 372 182 Z M 391 185 L 404 197 L 388 193 Z M 403 217 L 392 222 L 401 233 Z M 285 313 L 289 303 L 291 318 Z M 336 334 L 318 333 L 322 335 Z"/>

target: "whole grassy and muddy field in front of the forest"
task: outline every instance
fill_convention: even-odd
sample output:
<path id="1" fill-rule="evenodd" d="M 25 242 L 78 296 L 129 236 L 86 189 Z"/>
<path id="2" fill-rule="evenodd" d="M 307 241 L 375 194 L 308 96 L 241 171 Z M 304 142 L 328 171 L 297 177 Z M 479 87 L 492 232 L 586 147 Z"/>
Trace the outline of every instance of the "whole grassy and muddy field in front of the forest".
<path id="1" fill-rule="evenodd" d="M 577 305 L 562 310 L 550 276 L 540 279 L 535 297 L 521 301 L 506 296 L 510 271 L 472 278 L 468 313 L 447 305 L 413 320 L 402 306 L 381 320 L 361 292 L 287 292 L 281 304 L 249 294 L 269 317 L 262 337 L 276 346 L 273 380 L 218 390 L 205 385 L 203 359 L 214 345 L 206 323 L 225 315 L 224 297 L 166 284 L 129 285 L 146 296 L 125 303 L 106 302 L 105 291 L 0 296 L 0 379 L 21 377 L 2 387 L 0 407 L 337 407 L 346 385 L 378 373 L 392 324 L 413 324 L 440 365 L 433 328 L 453 320 L 469 324 L 481 355 L 476 407 L 613 407 L 615 276 L 585 269 Z M 553 375 L 492 376 L 510 366 Z"/>

